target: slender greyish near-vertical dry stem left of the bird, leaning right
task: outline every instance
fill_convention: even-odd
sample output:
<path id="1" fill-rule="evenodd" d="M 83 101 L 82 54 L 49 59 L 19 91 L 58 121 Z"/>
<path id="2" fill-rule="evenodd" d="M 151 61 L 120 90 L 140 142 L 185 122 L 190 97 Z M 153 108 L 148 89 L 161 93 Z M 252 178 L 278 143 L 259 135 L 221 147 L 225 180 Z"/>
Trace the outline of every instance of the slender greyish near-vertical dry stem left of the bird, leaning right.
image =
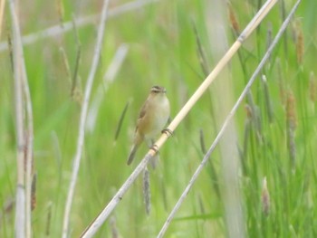
<path id="1" fill-rule="evenodd" d="M 86 88 L 85 88 L 84 98 L 82 102 L 82 111 L 81 111 L 81 118 L 80 118 L 80 125 L 79 125 L 79 136 L 77 140 L 77 149 L 76 149 L 76 154 L 73 157 L 72 179 L 71 179 L 70 187 L 68 190 L 65 211 L 63 216 L 63 223 L 62 223 L 62 237 L 63 238 L 68 237 L 68 233 L 69 233 L 72 197 L 74 194 L 76 181 L 78 177 L 78 171 L 79 171 L 81 158 L 82 158 L 82 147 L 83 147 L 84 136 L 85 136 L 85 124 L 86 124 L 89 100 L 91 96 L 91 87 L 92 87 L 92 83 L 93 83 L 93 80 L 97 71 L 98 63 L 100 60 L 100 56 L 101 56 L 101 46 L 102 46 L 102 41 L 103 41 L 103 36 L 105 31 L 105 24 L 108 17 L 109 2 L 110 0 L 104 0 L 103 2 L 102 11 L 101 11 L 101 22 L 98 29 L 97 43 L 96 43 L 93 59 L 91 62 L 91 71 L 86 82 Z"/>

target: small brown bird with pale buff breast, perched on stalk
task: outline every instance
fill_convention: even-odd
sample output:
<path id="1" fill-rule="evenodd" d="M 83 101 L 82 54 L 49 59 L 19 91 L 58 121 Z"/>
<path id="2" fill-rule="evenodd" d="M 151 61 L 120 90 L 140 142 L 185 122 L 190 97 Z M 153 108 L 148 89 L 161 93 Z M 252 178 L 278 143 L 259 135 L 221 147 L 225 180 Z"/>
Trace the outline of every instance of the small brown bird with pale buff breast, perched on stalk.
<path id="1" fill-rule="evenodd" d="M 169 101 L 166 96 L 166 90 L 160 86 L 153 86 L 149 92 L 148 99 L 139 112 L 133 146 L 128 157 L 128 165 L 132 162 L 142 141 L 145 140 L 149 145 L 167 124 L 168 118 Z"/>

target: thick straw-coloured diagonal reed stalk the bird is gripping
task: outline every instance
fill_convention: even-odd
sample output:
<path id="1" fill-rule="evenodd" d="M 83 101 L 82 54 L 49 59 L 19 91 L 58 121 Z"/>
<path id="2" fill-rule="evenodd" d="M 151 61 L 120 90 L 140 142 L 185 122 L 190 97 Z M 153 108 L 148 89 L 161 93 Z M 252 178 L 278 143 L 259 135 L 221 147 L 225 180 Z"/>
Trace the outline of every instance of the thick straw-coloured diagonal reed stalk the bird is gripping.
<path id="1" fill-rule="evenodd" d="M 185 106 L 178 112 L 178 115 L 172 122 L 169 124 L 168 128 L 165 129 L 165 133 L 161 135 L 161 137 L 156 141 L 154 146 L 149 149 L 149 152 L 146 156 L 140 161 L 139 166 L 135 168 L 132 174 L 128 177 L 126 182 L 120 187 L 119 191 L 116 195 L 112 197 L 109 204 L 101 211 L 94 221 L 86 228 L 86 230 L 82 233 L 81 237 L 92 237 L 94 233 L 96 233 L 101 225 L 105 222 L 105 220 L 109 217 L 110 213 L 113 209 L 119 204 L 123 195 L 128 191 L 130 186 L 139 176 L 141 171 L 147 166 L 149 159 L 153 157 L 159 148 L 165 143 L 165 141 L 171 136 L 173 131 L 178 127 L 178 124 L 187 116 L 187 113 L 190 109 L 193 108 L 197 100 L 203 95 L 203 93 L 208 89 L 210 84 L 216 79 L 216 76 L 222 69 L 226 66 L 226 64 L 231 60 L 235 52 L 240 48 L 245 39 L 255 30 L 258 24 L 264 19 L 264 16 L 272 9 L 277 0 L 268 0 L 263 7 L 255 14 L 255 17 L 252 21 L 247 24 L 243 33 L 239 35 L 235 43 L 231 46 L 231 48 L 226 52 L 223 58 L 216 64 L 216 67 L 210 74 L 207 76 L 207 79 L 203 81 L 203 83 L 199 86 L 193 96 L 187 101 Z"/>

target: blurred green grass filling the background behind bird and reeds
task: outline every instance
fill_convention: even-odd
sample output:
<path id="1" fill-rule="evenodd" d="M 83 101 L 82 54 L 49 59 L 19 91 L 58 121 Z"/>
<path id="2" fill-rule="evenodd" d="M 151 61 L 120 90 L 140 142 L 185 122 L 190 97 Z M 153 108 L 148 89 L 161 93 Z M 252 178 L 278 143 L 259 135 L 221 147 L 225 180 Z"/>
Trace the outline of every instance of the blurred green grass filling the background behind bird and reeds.
<path id="1" fill-rule="evenodd" d="M 213 3 L 214 1 L 211 1 Z M 127 1 L 110 2 L 110 11 Z M 130 167 L 126 159 L 139 108 L 153 85 L 165 86 L 171 117 L 205 79 L 219 56 L 210 24 L 208 1 L 157 1 L 112 15 L 107 22 L 91 101 L 101 91 L 96 120 L 85 134 L 82 162 L 71 211 L 71 237 L 78 237 L 118 191 L 140 157 Z M 226 24 L 227 48 L 264 1 L 232 0 L 219 12 Z M 244 43 L 227 68 L 229 84 L 211 85 L 172 138 L 161 148 L 159 166 L 149 167 L 150 213 L 143 200 L 143 180 L 137 179 L 96 237 L 153 237 L 204 157 L 231 106 L 261 61 L 294 1 L 278 1 L 273 11 Z M 83 16 L 99 14 L 102 1 L 34 1 L 19 4 L 23 35 Z M 317 220 L 317 71 L 315 23 L 317 2 L 303 1 L 275 48 L 270 61 L 235 114 L 240 195 L 248 237 L 316 237 Z M 1 34 L 11 39 L 5 8 Z M 91 69 L 98 20 L 76 30 L 24 45 L 24 60 L 34 110 L 34 171 L 36 205 L 34 237 L 60 237 L 72 159 L 76 150 L 84 85 Z M 201 62 L 198 41 L 205 60 Z M 4 44 L 2 44 L 4 45 Z M 1 47 L 0 47 L 1 48 Z M 16 190 L 16 129 L 14 75 L 9 50 L 0 52 L 0 236 L 14 236 Z M 110 81 L 110 64 L 126 50 L 118 73 Z M 113 68 L 112 68 L 113 69 Z M 107 72 L 108 71 L 108 72 Z M 104 82 L 106 80 L 106 82 Z M 219 79 L 220 80 L 220 79 Z M 216 98 L 216 91 L 224 98 Z M 225 98 L 230 92 L 230 100 Z M 93 104 L 90 104 L 91 107 Z M 120 123 L 122 113 L 128 106 Z M 91 110 L 90 110 L 90 113 Z M 90 115 L 89 115 L 90 116 Z M 221 123 L 221 121 L 220 121 Z M 118 127 L 120 130 L 118 133 Z M 117 134 L 118 133 L 118 134 Z M 166 237 L 226 237 L 222 151 L 216 148 L 190 190 Z M 118 236 L 116 236 L 116 234 Z"/>

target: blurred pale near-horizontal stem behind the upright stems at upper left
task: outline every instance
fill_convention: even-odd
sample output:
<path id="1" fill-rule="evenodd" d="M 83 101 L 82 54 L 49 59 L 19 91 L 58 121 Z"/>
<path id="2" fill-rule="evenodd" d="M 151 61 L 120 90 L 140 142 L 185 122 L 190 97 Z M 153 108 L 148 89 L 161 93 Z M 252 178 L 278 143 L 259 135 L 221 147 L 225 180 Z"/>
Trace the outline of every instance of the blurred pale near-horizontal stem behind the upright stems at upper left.
<path id="1" fill-rule="evenodd" d="M 155 3 L 158 1 L 159 0 L 137 0 L 134 2 L 130 2 L 128 4 L 114 7 L 113 9 L 109 10 L 108 18 L 110 19 L 120 14 L 125 14 L 127 12 L 139 9 L 143 7 L 144 5 L 149 5 L 151 3 Z M 76 19 L 76 25 L 78 27 L 83 27 L 88 24 L 95 24 L 96 20 L 99 17 L 100 17 L 100 14 L 92 14 L 89 16 L 80 17 Z M 39 40 L 43 40 L 50 37 L 56 37 L 62 33 L 67 33 L 71 31 L 72 28 L 73 28 L 72 21 L 66 22 L 62 25 L 61 24 L 53 25 L 51 27 L 46 28 L 43 31 L 24 35 L 24 37 L 22 38 L 22 42 L 24 43 L 24 45 L 36 43 Z M 4 52 L 7 49 L 8 49 L 8 44 L 6 42 L 0 43 L 0 52 Z"/>

